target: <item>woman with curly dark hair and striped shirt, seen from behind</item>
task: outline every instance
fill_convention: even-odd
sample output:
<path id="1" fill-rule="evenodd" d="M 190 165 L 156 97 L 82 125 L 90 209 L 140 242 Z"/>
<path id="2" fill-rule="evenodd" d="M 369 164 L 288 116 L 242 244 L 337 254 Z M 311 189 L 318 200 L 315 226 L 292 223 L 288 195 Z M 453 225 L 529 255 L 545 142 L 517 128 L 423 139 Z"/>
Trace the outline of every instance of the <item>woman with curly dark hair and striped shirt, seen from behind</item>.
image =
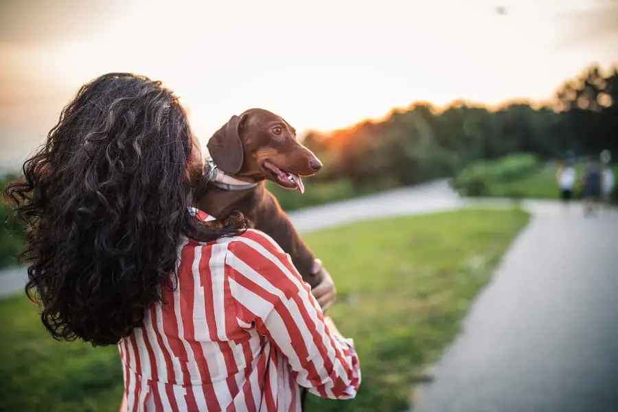
<path id="1" fill-rule="evenodd" d="M 129 411 L 297 411 L 297 384 L 353 398 L 353 343 L 288 255 L 242 216 L 192 208 L 201 159 L 160 82 L 110 73 L 80 89 L 7 190 L 43 324 L 118 344 Z"/>

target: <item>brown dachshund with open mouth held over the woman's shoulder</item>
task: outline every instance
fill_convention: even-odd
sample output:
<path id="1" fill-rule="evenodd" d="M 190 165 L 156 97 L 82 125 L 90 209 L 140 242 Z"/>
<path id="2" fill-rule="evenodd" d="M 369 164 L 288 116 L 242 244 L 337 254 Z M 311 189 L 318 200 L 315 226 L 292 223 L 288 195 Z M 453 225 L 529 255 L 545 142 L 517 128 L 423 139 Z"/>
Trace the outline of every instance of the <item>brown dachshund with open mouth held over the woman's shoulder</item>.
<path id="1" fill-rule="evenodd" d="M 240 211 L 255 229 L 268 233 L 289 253 L 313 288 L 321 280 L 314 255 L 294 225 L 266 190 L 266 179 L 286 189 L 304 192 L 301 176 L 318 172 L 322 163 L 296 140 L 296 130 L 282 117 L 253 108 L 233 116 L 209 140 L 211 169 L 208 190 L 198 192 L 198 207 L 218 219 Z"/>

